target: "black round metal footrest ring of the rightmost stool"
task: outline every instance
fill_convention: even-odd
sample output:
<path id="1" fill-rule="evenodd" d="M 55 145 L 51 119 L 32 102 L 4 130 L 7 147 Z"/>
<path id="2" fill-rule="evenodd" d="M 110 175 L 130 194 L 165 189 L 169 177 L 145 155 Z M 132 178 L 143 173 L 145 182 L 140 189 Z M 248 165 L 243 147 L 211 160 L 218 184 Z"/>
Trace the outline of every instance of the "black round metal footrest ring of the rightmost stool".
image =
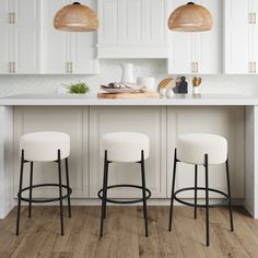
<path id="1" fill-rule="evenodd" d="M 175 192 L 174 192 L 174 198 L 175 198 L 175 200 L 178 201 L 178 202 L 180 202 L 181 204 L 185 204 L 185 206 L 206 208 L 206 204 L 195 204 L 195 203 L 191 203 L 191 202 L 181 200 L 180 198 L 178 198 L 178 197 L 176 196 L 176 195 L 178 195 L 179 192 L 191 191 L 191 190 L 195 190 L 195 187 L 181 188 L 181 189 L 175 191 Z M 197 187 L 197 190 L 206 191 L 206 188 L 204 188 L 204 187 Z M 225 192 L 220 191 L 220 190 L 216 190 L 216 189 L 213 189 L 213 188 L 208 188 L 208 190 L 209 190 L 209 191 L 212 191 L 212 192 L 220 194 L 220 195 L 222 195 L 223 197 L 225 197 L 225 199 L 223 199 L 222 201 L 220 201 L 220 202 L 218 202 L 218 203 L 209 204 L 209 208 L 222 207 L 222 206 L 228 203 L 230 197 L 228 197 L 228 195 L 226 195 Z"/>

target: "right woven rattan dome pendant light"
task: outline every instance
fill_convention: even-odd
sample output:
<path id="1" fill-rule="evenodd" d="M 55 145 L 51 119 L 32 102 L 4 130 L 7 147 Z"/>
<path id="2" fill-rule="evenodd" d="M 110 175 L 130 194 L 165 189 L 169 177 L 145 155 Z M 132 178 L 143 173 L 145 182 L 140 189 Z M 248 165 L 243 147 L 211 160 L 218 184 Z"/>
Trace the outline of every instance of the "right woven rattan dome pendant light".
<path id="1" fill-rule="evenodd" d="M 211 13 L 202 5 L 188 2 L 177 8 L 168 19 L 168 27 L 176 32 L 203 32 L 212 30 Z"/>

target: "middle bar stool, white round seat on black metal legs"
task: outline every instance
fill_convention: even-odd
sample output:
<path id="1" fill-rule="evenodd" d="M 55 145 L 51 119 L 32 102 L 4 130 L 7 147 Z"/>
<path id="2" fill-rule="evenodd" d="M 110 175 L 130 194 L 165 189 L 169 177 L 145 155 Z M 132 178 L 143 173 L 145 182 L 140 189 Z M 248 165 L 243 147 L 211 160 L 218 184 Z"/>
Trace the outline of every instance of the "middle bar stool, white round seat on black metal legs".
<path id="1" fill-rule="evenodd" d="M 143 215 L 145 223 L 145 236 L 148 231 L 146 200 L 151 197 L 151 191 L 145 187 L 145 168 L 144 161 L 149 157 L 149 138 L 142 133 L 136 132 L 112 132 L 104 134 L 102 138 L 101 153 L 104 155 L 104 177 L 103 188 L 97 196 L 102 199 L 101 216 L 101 237 L 103 236 L 104 219 L 106 218 L 106 202 L 118 204 L 143 203 Z M 107 185 L 108 165 L 110 163 L 139 163 L 141 164 L 142 185 Z M 138 188 L 142 190 L 142 198 L 136 200 L 120 201 L 107 198 L 107 190 L 112 188 Z M 146 195 L 148 194 L 148 195 Z"/>

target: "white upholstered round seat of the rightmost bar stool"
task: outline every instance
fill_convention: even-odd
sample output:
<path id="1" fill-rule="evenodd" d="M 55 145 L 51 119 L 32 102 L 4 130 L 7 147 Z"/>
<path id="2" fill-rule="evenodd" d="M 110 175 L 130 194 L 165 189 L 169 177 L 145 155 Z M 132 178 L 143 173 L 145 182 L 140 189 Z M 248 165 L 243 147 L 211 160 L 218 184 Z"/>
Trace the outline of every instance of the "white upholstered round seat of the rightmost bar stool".
<path id="1" fill-rule="evenodd" d="M 181 134 L 177 139 L 177 159 L 185 163 L 203 165 L 204 155 L 209 164 L 222 164 L 227 159 L 225 138 L 209 133 Z"/>

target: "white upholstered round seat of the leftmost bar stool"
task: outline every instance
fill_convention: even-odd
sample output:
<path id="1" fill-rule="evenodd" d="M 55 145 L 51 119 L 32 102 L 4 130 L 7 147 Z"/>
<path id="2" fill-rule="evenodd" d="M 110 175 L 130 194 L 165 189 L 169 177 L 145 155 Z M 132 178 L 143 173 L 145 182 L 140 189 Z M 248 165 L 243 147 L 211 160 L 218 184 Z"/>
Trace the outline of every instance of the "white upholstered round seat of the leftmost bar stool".
<path id="1" fill-rule="evenodd" d="M 70 137 L 64 132 L 40 131 L 24 134 L 20 140 L 20 151 L 24 150 L 24 160 L 35 162 L 51 162 L 70 154 Z"/>

